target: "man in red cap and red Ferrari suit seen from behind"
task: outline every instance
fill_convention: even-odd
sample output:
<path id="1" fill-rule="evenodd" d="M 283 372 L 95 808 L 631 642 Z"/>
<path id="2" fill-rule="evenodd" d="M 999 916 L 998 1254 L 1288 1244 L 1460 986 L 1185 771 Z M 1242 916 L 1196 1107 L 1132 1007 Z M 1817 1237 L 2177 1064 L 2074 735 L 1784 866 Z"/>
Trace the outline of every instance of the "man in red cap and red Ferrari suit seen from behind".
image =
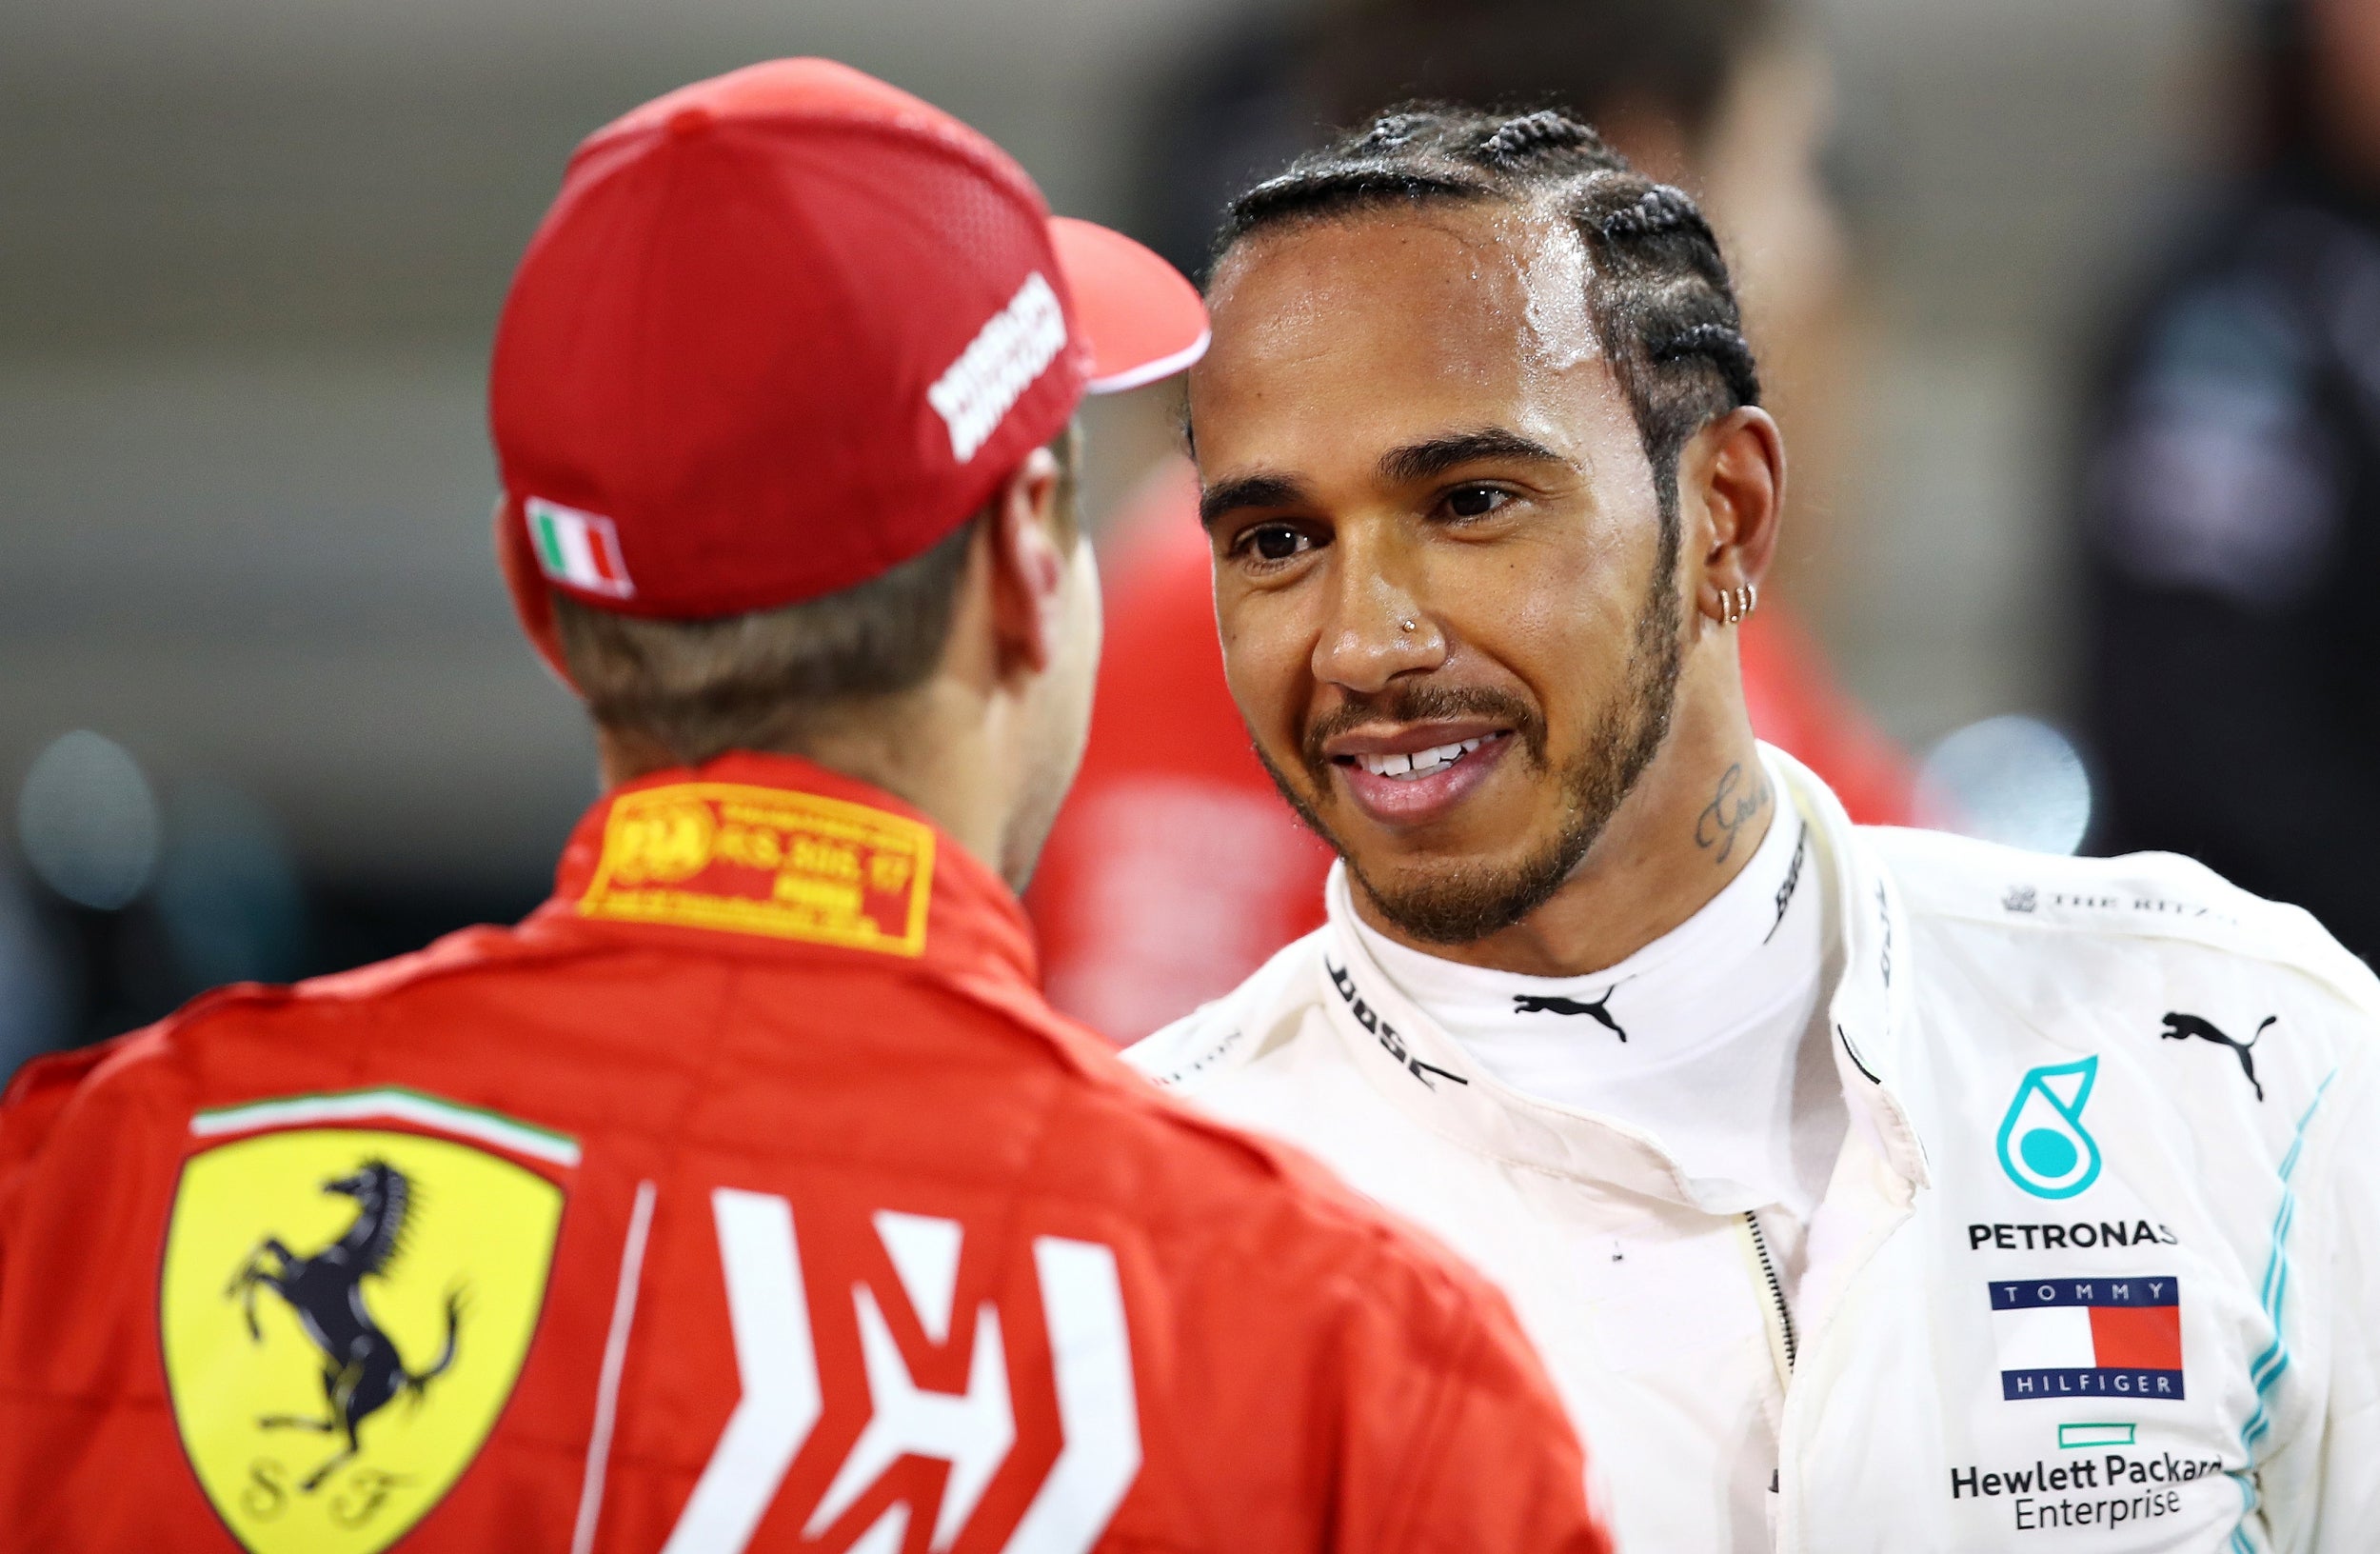
<path id="1" fill-rule="evenodd" d="M 581 145 L 490 400 L 607 795 L 516 930 L 12 1085 L 0 1542 L 1606 1549 L 1485 1280 L 1033 988 L 1069 421 L 1202 345 L 838 64 Z"/>

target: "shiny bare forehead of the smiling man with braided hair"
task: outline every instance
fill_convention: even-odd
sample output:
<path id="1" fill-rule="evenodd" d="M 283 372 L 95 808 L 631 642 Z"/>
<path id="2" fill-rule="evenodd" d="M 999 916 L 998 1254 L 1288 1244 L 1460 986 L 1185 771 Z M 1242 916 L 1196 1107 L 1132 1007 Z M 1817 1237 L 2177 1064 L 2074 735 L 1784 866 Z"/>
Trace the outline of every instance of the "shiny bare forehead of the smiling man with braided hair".
<path id="1" fill-rule="evenodd" d="M 1428 205 L 1261 233 L 1221 264 L 1192 371 L 1200 462 L 1307 464 L 1449 428 L 1554 447 L 1626 407 L 1587 312 L 1587 255 L 1557 214 Z"/>

